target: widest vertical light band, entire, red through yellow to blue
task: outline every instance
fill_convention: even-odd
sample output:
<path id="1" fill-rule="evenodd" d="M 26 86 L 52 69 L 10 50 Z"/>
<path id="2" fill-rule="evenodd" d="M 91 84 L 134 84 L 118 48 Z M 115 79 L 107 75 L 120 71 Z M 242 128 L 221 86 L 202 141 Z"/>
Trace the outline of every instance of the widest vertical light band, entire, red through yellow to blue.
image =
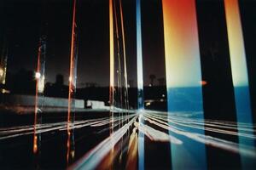
<path id="1" fill-rule="evenodd" d="M 174 111 L 179 114 L 183 111 L 203 111 L 195 0 L 162 0 L 162 8 L 168 114 L 172 115 Z M 204 130 L 192 131 L 204 134 Z M 173 169 L 207 168 L 204 144 L 184 138 L 182 145 L 171 143 L 171 152 Z"/>

